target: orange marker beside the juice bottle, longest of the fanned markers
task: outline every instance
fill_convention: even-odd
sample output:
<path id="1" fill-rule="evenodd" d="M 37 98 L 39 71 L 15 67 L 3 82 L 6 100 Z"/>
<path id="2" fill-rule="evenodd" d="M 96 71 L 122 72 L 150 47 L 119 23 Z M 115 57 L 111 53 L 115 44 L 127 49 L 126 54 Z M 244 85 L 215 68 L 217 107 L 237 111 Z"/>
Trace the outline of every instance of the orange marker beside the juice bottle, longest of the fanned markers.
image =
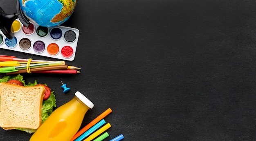
<path id="1" fill-rule="evenodd" d="M 83 134 L 85 131 L 90 129 L 93 125 L 101 121 L 104 117 L 106 117 L 109 113 L 111 113 L 112 110 L 108 108 L 105 112 L 100 114 L 97 118 L 95 118 L 93 121 L 91 121 L 88 125 L 86 125 L 84 128 L 82 128 L 80 131 L 78 131 L 70 141 L 74 141 L 76 138 L 78 138 L 81 134 Z"/>

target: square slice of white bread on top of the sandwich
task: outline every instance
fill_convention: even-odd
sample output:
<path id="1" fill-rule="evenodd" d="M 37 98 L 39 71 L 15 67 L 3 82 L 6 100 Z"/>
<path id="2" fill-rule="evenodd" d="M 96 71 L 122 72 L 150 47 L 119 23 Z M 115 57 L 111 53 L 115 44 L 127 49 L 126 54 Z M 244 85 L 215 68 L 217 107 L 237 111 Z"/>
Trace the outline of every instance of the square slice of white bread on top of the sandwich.
<path id="1" fill-rule="evenodd" d="M 0 83 L 0 127 L 37 129 L 42 124 L 43 86 Z"/>

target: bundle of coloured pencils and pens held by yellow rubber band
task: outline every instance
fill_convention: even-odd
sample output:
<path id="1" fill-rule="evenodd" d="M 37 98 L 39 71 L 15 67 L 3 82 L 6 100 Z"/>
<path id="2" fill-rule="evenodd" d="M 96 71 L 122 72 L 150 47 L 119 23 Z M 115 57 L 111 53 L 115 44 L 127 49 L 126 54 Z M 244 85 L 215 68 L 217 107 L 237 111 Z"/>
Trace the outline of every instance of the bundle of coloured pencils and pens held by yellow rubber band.
<path id="1" fill-rule="evenodd" d="M 0 73 L 7 75 L 22 73 L 78 74 L 79 67 L 66 65 L 64 61 L 20 59 L 0 55 Z"/>

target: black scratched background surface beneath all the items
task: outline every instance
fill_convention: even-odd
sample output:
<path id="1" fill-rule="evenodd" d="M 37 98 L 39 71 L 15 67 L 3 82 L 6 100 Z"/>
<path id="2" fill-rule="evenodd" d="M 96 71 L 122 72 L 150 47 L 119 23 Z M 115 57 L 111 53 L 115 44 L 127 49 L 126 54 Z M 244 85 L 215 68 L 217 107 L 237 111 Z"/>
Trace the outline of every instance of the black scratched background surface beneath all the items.
<path id="1" fill-rule="evenodd" d="M 6 13 L 15 5 L 0 1 Z M 77 0 L 63 26 L 80 31 L 66 63 L 81 73 L 23 76 L 47 83 L 57 107 L 76 91 L 87 96 L 95 106 L 81 128 L 110 107 L 105 141 L 256 140 L 255 0 Z M 0 129 L 0 141 L 30 137 Z"/>

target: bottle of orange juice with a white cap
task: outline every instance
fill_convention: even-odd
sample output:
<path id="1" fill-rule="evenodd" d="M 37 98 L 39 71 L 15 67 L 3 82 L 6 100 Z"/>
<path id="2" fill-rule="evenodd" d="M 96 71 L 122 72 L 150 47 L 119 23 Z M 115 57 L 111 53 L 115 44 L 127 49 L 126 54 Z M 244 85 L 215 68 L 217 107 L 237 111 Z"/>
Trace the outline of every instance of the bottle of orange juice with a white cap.
<path id="1" fill-rule="evenodd" d="M 80 92 L 58 107 L 36 130 L 29 141 L 70 141 L 79 130 L 85 113 L 93 103 Z"/>

